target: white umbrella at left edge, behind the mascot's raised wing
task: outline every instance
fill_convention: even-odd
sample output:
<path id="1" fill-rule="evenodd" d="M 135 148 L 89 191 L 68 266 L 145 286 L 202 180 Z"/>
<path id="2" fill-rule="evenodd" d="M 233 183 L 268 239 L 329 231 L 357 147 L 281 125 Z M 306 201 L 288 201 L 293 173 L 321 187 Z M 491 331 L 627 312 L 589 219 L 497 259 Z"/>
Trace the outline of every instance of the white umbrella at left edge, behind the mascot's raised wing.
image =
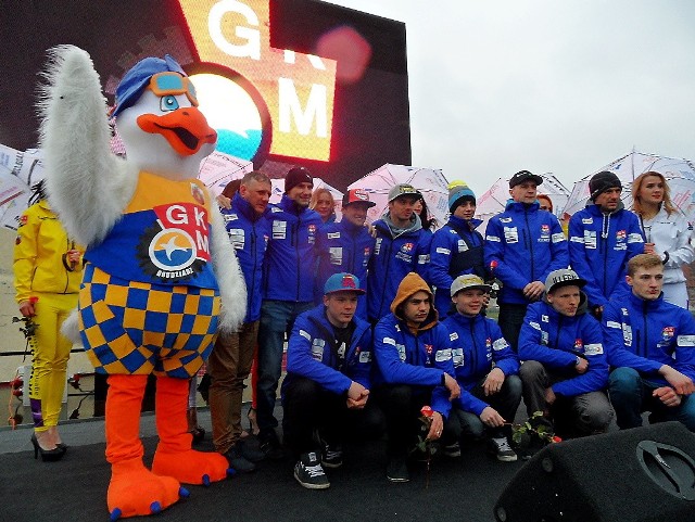
<path id="1" fill-rule="evenodd" d="M 17 229 L 28 207 L 31 187 L 46 177 L 37 149 L 25 152 L 0 144 L 0 226 Z"/>

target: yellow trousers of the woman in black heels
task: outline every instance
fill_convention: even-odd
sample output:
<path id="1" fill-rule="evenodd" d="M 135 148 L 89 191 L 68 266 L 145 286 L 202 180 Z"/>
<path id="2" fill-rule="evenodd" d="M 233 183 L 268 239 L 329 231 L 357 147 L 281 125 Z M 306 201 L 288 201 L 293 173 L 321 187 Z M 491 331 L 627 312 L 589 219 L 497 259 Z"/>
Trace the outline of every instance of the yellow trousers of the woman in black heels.
<path id="1" fill-rule="evenodd" d="M 34 292 L 39 301 L 36 316 L 36 347 L 29 378 L 29 402 L 37 432 L 58 425 L 65 389 L 67 359 L 73 343 L 61 334 L 61 326 L 77 306 L 77 295 Z"/>

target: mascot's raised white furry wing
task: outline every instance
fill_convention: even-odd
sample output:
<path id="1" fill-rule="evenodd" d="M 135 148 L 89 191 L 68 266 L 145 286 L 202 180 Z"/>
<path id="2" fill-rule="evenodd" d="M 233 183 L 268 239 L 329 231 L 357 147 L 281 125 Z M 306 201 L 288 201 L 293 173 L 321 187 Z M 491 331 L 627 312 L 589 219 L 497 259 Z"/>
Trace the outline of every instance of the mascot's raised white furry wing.
<path id="1" fill-rule="evenodd" d="M 51 205 L 79 243 L 101 241 L 130 200 L 137 173 L 110 150 L 106 101 L 89 54 L 49 51 L 38 104 Z"/>

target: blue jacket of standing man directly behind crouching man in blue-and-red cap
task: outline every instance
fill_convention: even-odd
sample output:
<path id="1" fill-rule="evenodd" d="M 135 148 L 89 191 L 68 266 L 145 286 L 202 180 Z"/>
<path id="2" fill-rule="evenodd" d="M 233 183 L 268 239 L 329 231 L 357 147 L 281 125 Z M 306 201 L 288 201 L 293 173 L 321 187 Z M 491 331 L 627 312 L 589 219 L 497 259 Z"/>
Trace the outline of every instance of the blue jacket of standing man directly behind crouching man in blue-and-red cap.
<path id="1" fill-rule="evenodd" d="M 348 272 L 359 279 L 359 288 L 367 291 L 367 267 L 374 252 L 375 238 L 366 227 L 357 227 L 348 219 L 325 225 L 316 238 L 318 276 L 316 304 L 321 303 L 324 284 L 333 273 Z M 367 318 L 367 297 L 361 295 L 355 315 Z"/>

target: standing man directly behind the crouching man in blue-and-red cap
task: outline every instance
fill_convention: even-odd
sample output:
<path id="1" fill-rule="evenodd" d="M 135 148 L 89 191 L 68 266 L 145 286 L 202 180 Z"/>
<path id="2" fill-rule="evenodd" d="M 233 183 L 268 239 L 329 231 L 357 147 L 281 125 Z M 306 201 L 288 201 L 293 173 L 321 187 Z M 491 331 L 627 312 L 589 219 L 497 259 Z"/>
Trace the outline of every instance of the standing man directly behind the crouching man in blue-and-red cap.
<path id="1" fill-rule="evenodd" d="M 333 273 L 348 272 L 359 279 L 367 292 L 367 267 L 374 253 L 375 239 L 365 227 L 367 211 L 376 203 L 369 201 L 369 193 L 363 189 L 349 190 L 343 198 L 342 218 L 338 222 L 325 225 L 318 232 L 316 252 L 318 255 L 318 277 L 315 285 L 324 295 L 324 283 Z M 317 303 L 318 304 L 318 303 Z M 361 319 L 367 319 L 367 298 L 357 300 Z"/>

